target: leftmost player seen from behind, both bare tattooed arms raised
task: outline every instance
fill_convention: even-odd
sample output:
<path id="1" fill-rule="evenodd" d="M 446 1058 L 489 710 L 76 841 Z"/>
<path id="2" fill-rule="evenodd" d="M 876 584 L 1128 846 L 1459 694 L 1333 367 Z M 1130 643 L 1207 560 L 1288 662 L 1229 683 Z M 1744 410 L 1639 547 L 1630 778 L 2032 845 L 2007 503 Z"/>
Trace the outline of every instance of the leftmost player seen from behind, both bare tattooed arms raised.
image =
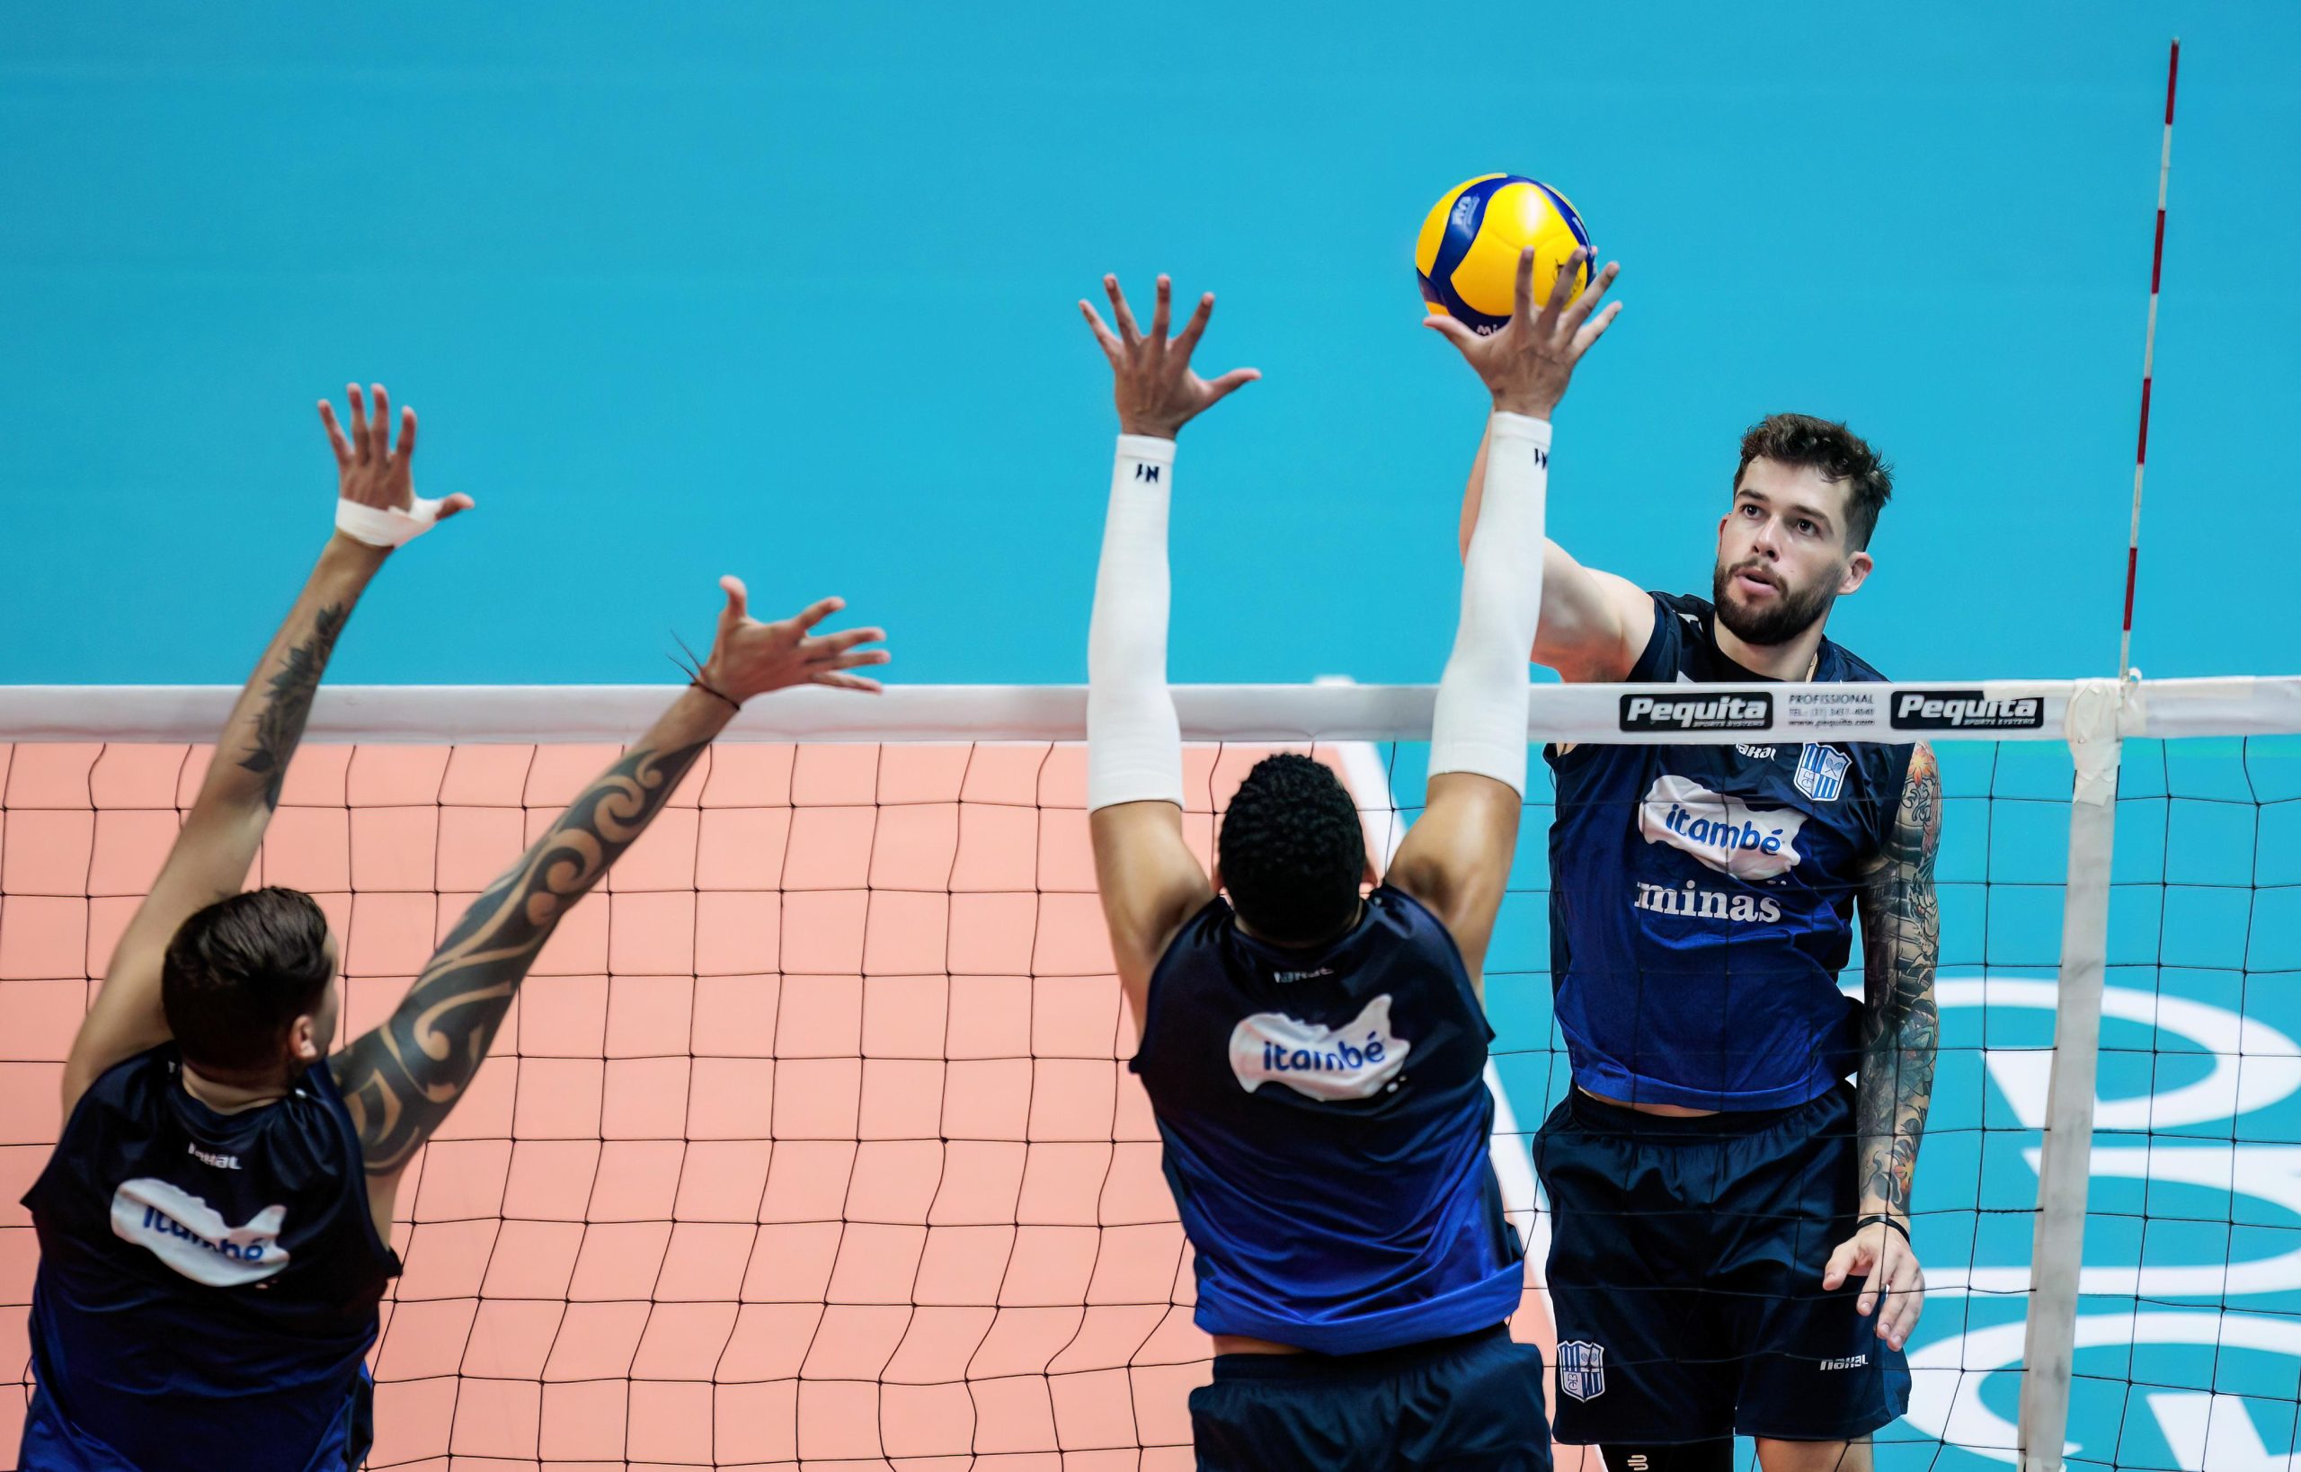
<path id="1" fill-rule="evenodd" d="M 398 1272 L 391 1203 L 463 1097 L 568 908 L 759 692 L 874 690 L 844 674 L 879 630 L 817 637 L 840 607 L 746 616 L 663 718 L 545 830 L 439 945 L 398 1012 L 329 1053 L 336 941 L 311 895 L 242 892 L 313 692 L 391 550 L 469 506 L 414 497 L 416 419 L 352 386 L 336 534 L 216 738 L 200 796 L 120 936 L 64 1065 L 64 1129 L 25 1194 L 39 1233 L 28 1472 L 318 1472 L 368 1451 L 375 1304 Z M 601 591 L 614 589 L 601 568 Z"/>

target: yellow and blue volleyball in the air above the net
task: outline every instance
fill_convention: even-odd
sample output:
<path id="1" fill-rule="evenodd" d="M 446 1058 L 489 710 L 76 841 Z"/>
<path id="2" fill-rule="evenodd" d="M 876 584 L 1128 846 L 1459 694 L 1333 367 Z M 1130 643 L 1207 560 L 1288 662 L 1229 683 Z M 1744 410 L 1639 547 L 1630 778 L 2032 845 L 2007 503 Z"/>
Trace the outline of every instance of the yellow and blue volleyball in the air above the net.
<path id="1" fill-rule="evenodd" d="M 1567 195 L 1526 175 L 1480 175 L 1445 191 L 1415 239 L 1422 301 L 1470 331 L 1491 334 L 1509 322 L 1519 251 L 1535 248 L 1535 301 L 1544 301 L 1558 269 L 1590 230 Z M 1590 285 L 1585 260 L 1574 290 Z"/>

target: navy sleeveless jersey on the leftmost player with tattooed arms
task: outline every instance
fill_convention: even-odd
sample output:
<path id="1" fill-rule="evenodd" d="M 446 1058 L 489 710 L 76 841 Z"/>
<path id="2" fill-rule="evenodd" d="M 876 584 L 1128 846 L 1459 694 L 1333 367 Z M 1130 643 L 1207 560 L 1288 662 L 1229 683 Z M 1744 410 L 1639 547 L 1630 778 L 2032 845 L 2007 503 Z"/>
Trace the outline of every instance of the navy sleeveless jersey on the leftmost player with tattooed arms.
<path id="1" fill-rule="evenodd" d="M 175 1044 L 106 1070 L 25 1191 L 32 1366 L 143 1472 L 306 1472 L 366 1389 L 400 1263 L 327 1065 L 239 1113 L 177 1070 Z"/>

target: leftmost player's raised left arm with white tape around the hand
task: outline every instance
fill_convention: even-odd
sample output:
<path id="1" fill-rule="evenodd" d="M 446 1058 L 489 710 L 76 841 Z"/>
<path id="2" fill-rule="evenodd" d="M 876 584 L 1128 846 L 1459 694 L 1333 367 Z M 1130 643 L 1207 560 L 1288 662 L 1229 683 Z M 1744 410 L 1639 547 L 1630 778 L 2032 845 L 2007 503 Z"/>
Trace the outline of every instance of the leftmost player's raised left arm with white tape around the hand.
<path id="1" fill-rule="evenodd" d="M 382 384 L 375 386 L 373 430 L 359 384 L 352 384 L 350 435 L 336 423 L 336 409 L 327 402 L 320 405 L 320 421 L 336 448 L 341 499 L 364 506 L 414 501 L 410 476 L 416 442 L 414 409 L 403 409 L 398 451 L 391 448 L 391 398 Z M 469 504 L 467 497 L 449 497 L 439 515 L 453 515 Z M 159 879 L 113 948 L 104 991 L 71 1040 L 71 1056 L 64 1063 L 67 1116 L 97 1074 L 168 1040 L 159 996 L 168 941 L 186 915 L 237 895 L 246 883 L 272 810 L 278 807 L 288 761 L 304 738 L 304 720 L 327 672 L 327 656 L 334 653 L 352 605 L 384 566 L 384 557 L 389 557 L 384 547 L 334 534 L 295 607 L 288 610 L 285 623 L 272 635 L 265 658 L 255 662 L 255 674 L 249 676 L 223 722 L 223 734 L 216 736 L 216 754 L 207 764 L 200 796 L 184 814 Z"/>

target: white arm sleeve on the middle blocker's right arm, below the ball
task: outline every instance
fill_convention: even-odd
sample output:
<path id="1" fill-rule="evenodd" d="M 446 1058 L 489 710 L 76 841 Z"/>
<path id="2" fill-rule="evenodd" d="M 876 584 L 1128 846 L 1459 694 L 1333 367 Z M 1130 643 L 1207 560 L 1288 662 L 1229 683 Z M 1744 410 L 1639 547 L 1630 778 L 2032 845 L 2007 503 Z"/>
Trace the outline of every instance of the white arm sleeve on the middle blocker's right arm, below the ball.
<path id="1" fill-rule="evenodd" d="M 1542 511 L 1551 425 L 1496 414 L 1486 488 L 1461 568 L 1461 623 L 1438 681 L 1431 766 L 1480 773 L 1526 793 L 1526 665 L 1542 623 Z"/>

